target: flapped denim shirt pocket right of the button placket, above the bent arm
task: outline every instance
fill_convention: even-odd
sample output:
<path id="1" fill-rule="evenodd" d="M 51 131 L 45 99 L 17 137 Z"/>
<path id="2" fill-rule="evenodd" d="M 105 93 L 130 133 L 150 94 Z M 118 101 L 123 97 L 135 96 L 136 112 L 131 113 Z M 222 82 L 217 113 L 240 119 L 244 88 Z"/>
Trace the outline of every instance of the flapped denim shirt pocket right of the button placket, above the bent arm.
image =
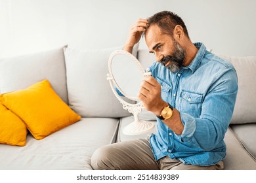
<path id="1" fill-rule="evenodd" d="M 196 118 L 199 117 L 202 111 L 203 94 L 182 90 L 180 97 L 182 112 L 186 112 Z"/>

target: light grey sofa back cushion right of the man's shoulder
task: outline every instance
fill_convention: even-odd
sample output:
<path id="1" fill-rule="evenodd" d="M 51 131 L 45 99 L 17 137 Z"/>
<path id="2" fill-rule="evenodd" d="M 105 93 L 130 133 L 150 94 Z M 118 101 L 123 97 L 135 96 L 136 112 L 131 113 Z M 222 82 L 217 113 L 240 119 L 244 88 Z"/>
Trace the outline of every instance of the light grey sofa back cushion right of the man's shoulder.
<path id="1" fill-rule="evenodd" d="M 238 95 L 231 124 L 255 123 L 256 57 L 220 56 L 234 65 L 238 75 Z"/>

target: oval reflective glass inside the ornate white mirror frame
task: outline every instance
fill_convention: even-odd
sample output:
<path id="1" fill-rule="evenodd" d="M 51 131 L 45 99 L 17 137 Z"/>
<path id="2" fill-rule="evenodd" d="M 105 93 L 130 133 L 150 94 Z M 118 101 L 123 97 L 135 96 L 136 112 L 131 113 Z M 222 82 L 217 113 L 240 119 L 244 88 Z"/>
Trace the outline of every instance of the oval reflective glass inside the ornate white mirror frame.
<path id="1" fill-rule="evenodd" d="M 138 101 L 137 93 L 143 78 L 144 69 L 136 58 L 127 54 L 116 54 L 112 58 L 111 69 L 116 88 L 125 97 Z"/>

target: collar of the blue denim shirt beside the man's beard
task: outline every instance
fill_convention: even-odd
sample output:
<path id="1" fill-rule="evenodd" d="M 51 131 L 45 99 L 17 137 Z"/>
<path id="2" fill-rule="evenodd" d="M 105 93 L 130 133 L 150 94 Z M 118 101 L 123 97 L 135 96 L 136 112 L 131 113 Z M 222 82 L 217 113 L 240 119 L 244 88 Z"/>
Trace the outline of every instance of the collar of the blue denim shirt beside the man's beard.
<path id="1" fill-rule="evenodd" d="M 196 42 L 194 43 L 194 45 L 196 46 L 196 48 L 198 48 L 198 53 L 196 54 L 195 58 L 192 60 L 190 65 L 184 67 L 184 69 L 190 69 L 192 73 L 194 73 L 198 68 L 198 65 L 201 63 L 206 51 L 206 47 L 202 42 Z"/>

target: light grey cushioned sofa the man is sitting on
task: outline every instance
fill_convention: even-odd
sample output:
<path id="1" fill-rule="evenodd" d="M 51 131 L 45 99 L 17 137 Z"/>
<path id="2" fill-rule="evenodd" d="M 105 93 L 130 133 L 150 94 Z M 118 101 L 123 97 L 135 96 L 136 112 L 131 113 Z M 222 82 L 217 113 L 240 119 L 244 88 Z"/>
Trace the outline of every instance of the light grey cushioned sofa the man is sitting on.
<path id="1" fill-rule="evenodd" d="M 8 144 L 0 136 L 0 169 L 89 170 L 92 169 L 91 156 L 98 147 L 155 133 L 156 129 L 135 136 L 122 133 L 122 128 L 133 121 L 133 116 L 122 108 L 106 79 L 108 58 L 118 49 L 121 47 L 79 50 L 62 46 L 0 59 L 0 95 L 23 91 L 47 80 L 62 102 L 81 117 L 42 139 L 35 139 L 33 131 L 25 125 L 26 143 L 22 146 Z M 154 55 L 139 46 L 134 48 L 133 55 L 144 68 L 154 61 Z M 224 169 L 255 170 L 256 57 L 221 57 L 234 65 L 239 80 L 234 115 L 224 137 L 227 146 Z M 146 110 L 139 114 L 139 118 L 156 122 L 156 117 Z M 41 123 L 41 119 L 39 121 Z M 41 125 L 39 121 L 33 123 Z M 3 133 L 0 129 L 0 135 Z"/>

